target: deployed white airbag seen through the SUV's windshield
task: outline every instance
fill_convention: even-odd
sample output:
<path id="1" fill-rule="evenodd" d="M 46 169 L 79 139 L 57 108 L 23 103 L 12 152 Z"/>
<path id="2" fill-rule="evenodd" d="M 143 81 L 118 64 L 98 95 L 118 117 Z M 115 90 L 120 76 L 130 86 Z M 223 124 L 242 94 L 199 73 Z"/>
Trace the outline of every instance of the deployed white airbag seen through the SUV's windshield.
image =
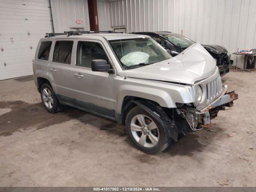
<path id="1" fill-rule="evenodd" d="M 140 63 L 148 62 L 149 54 L 136 51 L 130 52 L 127 55 L 123 56 L 120 60 L 126 66 L 138 65 Z"/>

